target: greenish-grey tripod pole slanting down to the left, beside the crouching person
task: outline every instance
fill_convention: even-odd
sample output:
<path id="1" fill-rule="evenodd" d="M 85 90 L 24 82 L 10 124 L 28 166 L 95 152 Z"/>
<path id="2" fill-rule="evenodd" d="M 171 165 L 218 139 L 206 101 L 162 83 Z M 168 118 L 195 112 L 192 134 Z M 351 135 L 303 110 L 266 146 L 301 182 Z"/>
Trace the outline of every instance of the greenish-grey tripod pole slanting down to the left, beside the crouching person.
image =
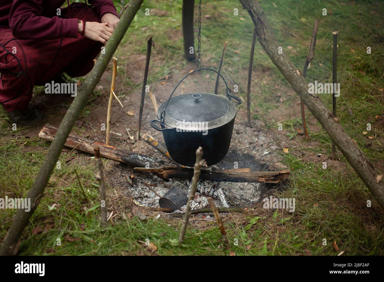
<path id="1" fill-rule="evenodd" d="M 63 121 L 57 130 L 56 137 L 48 148 L 48 153 L 46 154 L 44 162 L 40 167 L 40 171 L 26 196 L 26 198 L 31 199 L 31 210 L 29 212 L 25 212 L 23 209 L 18 209 L 15 217 L 13 218 L 12 225 L 4 238 L 0 249 L 0 255 L 11 255 L 17 246 L 25 226 L 27 226 L 29 219 L 37 208 L 39 200 L 45 190 L 45 186 L 47 185 L 53 169 L 56 166 L 61 150 L 63 150 L 64 143 L 70 134 L 74 123 L 78 119 L 81 110 L 83 110 L 84 106 L 87 104 L 89 95 L 98 84 L 101 76 L 108 66 L 109 60 L 116 51 L 116 48 L 126 33 L 142 2 L 143 0 L 131 0 L 129 2 L 129 6 L 124 11 L 113 35 L 105 45 L 105 53 L 100 54 L 86 81 L 79 87 L 78 94 L 65 114 Z"/>

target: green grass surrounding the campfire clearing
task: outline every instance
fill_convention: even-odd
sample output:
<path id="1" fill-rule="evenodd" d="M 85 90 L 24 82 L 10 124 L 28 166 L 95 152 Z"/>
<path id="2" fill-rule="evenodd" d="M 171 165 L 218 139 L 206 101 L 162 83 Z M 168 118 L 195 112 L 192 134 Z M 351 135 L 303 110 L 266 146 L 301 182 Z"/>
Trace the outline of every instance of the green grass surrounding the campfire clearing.
<path id="1" fill-rule="evenodd" d="M 172 74 L 175 80 L 184 76 L 180 71 L 187 66 L 182 59 L 181 2 L 144 2 L 116 51 L 119 66 L 127 64 L 129 67 L 134 58 L 145 54 L 146 40 L 153 35 L 156 47 L 152 49 L 154 63 L 148 83 L 155 83 L 168 74 Z M 356 140 L 369 160 L 372 163 L 382 162 L 382 138 L 375 139 L 374 146 L 367 147 L 367 135 L 361 132 L 366 130 L 367 123 L 374 124 L 375 115 L 383 114 L 383 94 L 379 91 L 384 86 L 384 29 L 380 13 L 384 8 L 383 3 L 359 1 L 353 5 L 349 2 L 342 5 L 334 1 L 311 1 L 303 5 L 298 0 L 273 2 L 262 1 L 262 7 L 283 52 L 299 69 L 302 69 L 308 54 L 314 20 L 320 20 L 315 55 L 307 72 L 308 82 L 331 82 L 331 32 L 341 30 L 338 41 L 338 80 L 341 84 L 338 116 L 344 129 Z M 228 40 L 224 69 L 239 85 L 239 95 L 245 98 L 253 23 L 237 1 L 203 1 L 203 5 L 202 66 L 217 68 L 223 43 Z M 167 10 L 169 15 L 145 16 L 146 8 Z M 234 8 L 238 8 L 238 16 L 233 15 Z M 327 16 L 321 15 L 323 8 L 327 8 Z M 210 15 L 210 18 L 204 15 Z M 372 54 L 366 54 L 367 46 L 372 48 Z M 119 69 L 119 74 L 124 75 L 124 68 Z M 263 83 L 264 80 L 266 83 Z M 124 84 L 131 90 L 140 87 L 128 79 Z M 255 102 L 252 107 L 258 112 L 254 118 L 262 119 L 271 129 L 276 127 L 275 121 L 284 120 L 284 130 L 289 133 L 287 139 L 295 140 L 300 138 L 296 135 L 296 128 L 301 127 L 300 116 L 289 120 L 276 117 L 274 121 L 264 117 L 276 109 L 276 84 L 288 87 L 257 43 L 252 94 L 252 101 Z M 331 108 L 330 96 L 321 96 L 321 99 Z M 88 112 L 86 109 L 82 114 L 86 116 Z M 23 129 L 17 132 L 10 130 L 3 111 L 0 111 L 0 120 L 0 195 L 7 193 L 8 197 L 23 197 L 33 183 L 49 143 L 26 139 Z M 382 137 L 382 131 L 375 129 L 368 135 L 374 134 Z M 20 137 L 15 139 L 16 135 Z M 310 141 L 313 140 L 318 140 L 319 146 L 306 147 L 306 141 L 301 141 L 303 150 L 313 153 L 323 151 L 329 155 L 331 140 L 324 130 L 310 133 Z M 45 196 L 23 233 L 20 254 L 150 254 L 145 246 L 137 242 L 146 239 L 156 244 L 157 254 L 161 255 L 229 253 L 219 247 L 221 236 L 215 223 L 189 228 L 183 244 L 177 243 L 181 221 L 162 217 L 155 219 L 156 213 L 144 221 L 134 215 L 126 220 L 119 219 L 108 228 L 101 229 L 97 208 L 98 182 L 94 177 L 93 160 L 81 157 L 79 162 L 67 166 L 65 160 L 71 154 L 61 154 L 61 169 L 54 170 Z M 341 161 L 346 162 L 344 158 Z M 285 189 L 277 191 L 276 195 L 295 198 L 295 213 L 269 211 L 259 206 L 244 214 L 226 216 L 224 222 L 235 254 L 297 255 L 306 254 L 307 251 L 314 255 L 336 255 L 338 252 L 333 249 L 333 241 L 348 255 L 383 254 L 383 211 L 348 164 L 339 170 L 323 169 L 319 163 L 304 163 L 291 154 L 284 155 L 283 163 L 291 168 L 290 183 Z M 108 173 L 111 164 L 104 160 L 104 165 Z M 79 173 L 88 200 L 84 200 L 74 169 Z M 377 172 L 383 173 L 382 166 L 377 166 Z M 115 187 L 108 188 L 110 191 Z M 371 208 L 367 207 L 368 200 L 372 202 Z M 53 204 L 56 205 L 51 208 Z M 10 209 L 0 212 L 0 238 L 5 236 L 14 213 Z M 126 213 L 129 213 L 129 209 Z M 37 226 L 45 228 L 45 231 L 38 235 L 31 234 Z M 56 246 L 58 238 L 61 239 L 61 246 Z M 325 246 L 323 239 L 327 241 Z M 238 244 L 234 245 L 234 242 Z"/>

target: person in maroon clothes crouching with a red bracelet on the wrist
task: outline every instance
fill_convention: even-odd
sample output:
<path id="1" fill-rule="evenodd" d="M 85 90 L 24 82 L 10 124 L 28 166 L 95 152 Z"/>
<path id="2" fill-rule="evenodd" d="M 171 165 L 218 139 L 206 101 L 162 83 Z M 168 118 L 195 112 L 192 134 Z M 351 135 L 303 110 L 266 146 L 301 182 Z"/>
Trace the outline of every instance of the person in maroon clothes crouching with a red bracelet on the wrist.
<path id="1" fill-rule="evenodd" d="M 2 0 L 0 3 L 0 104 L 12 122 L 41 120 L 29 102 L 34 85 L 59 73 L 84 76 L 119 22 L 112 0 Z"/>

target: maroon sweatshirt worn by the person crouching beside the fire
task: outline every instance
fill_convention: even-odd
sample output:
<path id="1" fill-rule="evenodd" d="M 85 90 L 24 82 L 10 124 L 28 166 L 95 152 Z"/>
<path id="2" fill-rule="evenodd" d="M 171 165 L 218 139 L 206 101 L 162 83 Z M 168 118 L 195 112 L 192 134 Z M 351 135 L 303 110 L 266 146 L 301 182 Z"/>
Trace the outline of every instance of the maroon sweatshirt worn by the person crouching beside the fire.
<path id="1" fill-rule="evenodd" d="M 76 18 L 59 18 L 57 9 L 65 0 L 1 0 L 0 33 L 11 29 L 13 36 L 20 39 L 77 38 Z M 111 0 L 89 0 L 100 18 L 105 13 L 116 13 Z"/>

